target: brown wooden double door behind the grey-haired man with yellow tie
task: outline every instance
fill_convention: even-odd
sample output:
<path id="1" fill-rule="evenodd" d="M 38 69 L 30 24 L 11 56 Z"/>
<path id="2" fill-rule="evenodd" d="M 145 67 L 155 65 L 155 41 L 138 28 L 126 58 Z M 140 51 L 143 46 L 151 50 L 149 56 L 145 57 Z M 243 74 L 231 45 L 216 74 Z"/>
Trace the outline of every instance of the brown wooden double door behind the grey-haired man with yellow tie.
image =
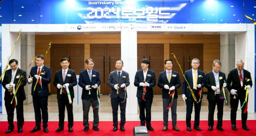
<path id="1" fill-rule="evenodd" d="M 172 70 L 177 71 L 180 75 L 181 87 L 178 89 L 178 93 L 182 93 L 182 82 L 184 77 L 176 62 L 175 58 L 171 53 L 174 53 L 183 73 L 186 70 L 192 68 L 191 61 L 193 58 L 198 58 L 200 60 L 199 70 L 203 70 L 203 45 L 202 44 L 171 44 L 170 45 L 170 58 L 173 60 Z"/>

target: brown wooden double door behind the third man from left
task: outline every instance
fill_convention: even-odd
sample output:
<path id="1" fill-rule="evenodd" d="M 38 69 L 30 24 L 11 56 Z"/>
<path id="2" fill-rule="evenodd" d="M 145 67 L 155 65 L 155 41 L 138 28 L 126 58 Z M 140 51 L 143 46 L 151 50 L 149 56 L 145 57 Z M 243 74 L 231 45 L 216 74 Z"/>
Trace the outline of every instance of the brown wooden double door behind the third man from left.
<path id="1" fill-rule="evenodd" d="M 50 93 L 56 94 L 57 89 L 53 85 L 54 76 L 56 71 L 60 70 L 60 60 L 62 58 L 69 58 L 69 68 L 76 72 L 76 75 L 84 70 L 84 45 L 83 44 L 52 44 L 51 47 L 51 68 L 52 77 L 50 85 Z"/>

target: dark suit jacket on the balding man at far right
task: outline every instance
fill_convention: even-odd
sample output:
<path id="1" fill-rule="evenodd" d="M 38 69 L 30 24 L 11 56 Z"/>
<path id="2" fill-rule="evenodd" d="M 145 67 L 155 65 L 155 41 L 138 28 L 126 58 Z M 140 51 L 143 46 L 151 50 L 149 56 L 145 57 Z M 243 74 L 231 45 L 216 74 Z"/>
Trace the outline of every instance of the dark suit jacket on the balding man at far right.
<path id="1" fill-rule="evenodd" d="M 247 82 L 246 79 L 248 79 L 249 81 Z M 245 69 L 244 69 L 243 83 L 244 83 L 243 87 L 241 87 L 237 68 L 235 68 L 234 70 L 231 70 L 227 78 L 228 91 L 230 91 L 231 89 L 235 89 L 237 90 L 236 93 L 239 96 L 245 97 L 246 95 L 246 91 L 244 90 L 245 85 L 250 85 L 252 87 L 251 73 Z M 230 93 L 230 97 L 234 97 L 234 95 Z"/>

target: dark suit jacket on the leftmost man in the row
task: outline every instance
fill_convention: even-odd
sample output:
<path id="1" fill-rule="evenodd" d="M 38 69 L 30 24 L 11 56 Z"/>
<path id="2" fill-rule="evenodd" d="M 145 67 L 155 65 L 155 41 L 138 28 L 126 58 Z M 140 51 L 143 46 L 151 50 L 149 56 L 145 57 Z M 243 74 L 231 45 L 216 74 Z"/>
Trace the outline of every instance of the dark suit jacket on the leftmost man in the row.
<path id="1" fill-rule="evenodd" d="M 15 90 L 16 97 L 17 97 L 18 101 L 24 101 L 26 99 L 24 86 L 27 84 L 26 71 L 18 68 L 16 71 L 16 74 L 14 76 L 14 82 L 13 82 L 13 84 L 15 84 L 15 89 L 17 87 L 17 83 L 21 76 L 23 76 L 23 78 L 21 79 L 20 87 L 18 90 Z M 5 101 L 13 98 L 13 95 L 10 95 L 10 91 L 8 91 L 8 89 L 5 87 L 6 84 L 10 84 L 11 80 L 12 80 L 12 69 L 9 69 L 9 70 L 6 70 L 6 72 L 4 74 L 4 79 L 2 82 L 2 85 L 5 89 L 5 92 L 4 92 L 4 100 Z"/>

